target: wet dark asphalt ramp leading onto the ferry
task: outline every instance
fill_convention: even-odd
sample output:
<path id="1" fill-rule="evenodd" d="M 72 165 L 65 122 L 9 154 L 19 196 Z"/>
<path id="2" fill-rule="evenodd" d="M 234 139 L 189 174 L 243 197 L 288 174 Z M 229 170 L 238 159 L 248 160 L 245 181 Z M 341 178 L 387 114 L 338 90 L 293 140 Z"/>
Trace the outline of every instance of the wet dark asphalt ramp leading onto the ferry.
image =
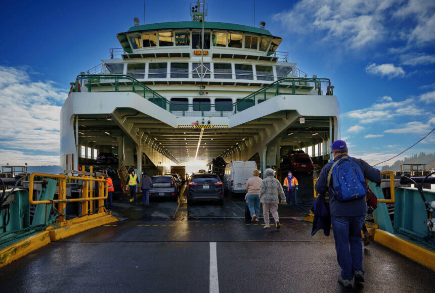
<path id="1" fill-rule="evenodd" d="M 303 198 L 302 198 L 303 200 Z M 0 269 L 0 292 L 423 292 L 435 272 L 372 242 L 366 282 L 337 282 L 333 236 L 311 236 L 309 207 L 279 205 L 281 229 L 245 222 L 245 203 L 226 198 L 187 206 L 152 199 L 149 208 L 115 203 L 120 221 L 52 242 Z M 305 199 L 307 202 L 308 200 Z M 308 204 L 308 202 L 307 202 Z M 272 218 L 271 218 L 272 220 Z M 217 286 L 210 283 L 216 242 Z"/>

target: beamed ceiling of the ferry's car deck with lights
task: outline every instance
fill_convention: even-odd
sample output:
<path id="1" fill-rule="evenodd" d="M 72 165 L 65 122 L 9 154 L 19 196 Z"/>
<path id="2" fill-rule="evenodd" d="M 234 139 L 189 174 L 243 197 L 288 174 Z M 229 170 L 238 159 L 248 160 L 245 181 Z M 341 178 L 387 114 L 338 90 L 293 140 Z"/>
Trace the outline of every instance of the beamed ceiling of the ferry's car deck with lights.
<path id="1" fill-rule="evenodd" d="M 141 133 L 143 143 L 161 146 L 179 162 L 211 161 L 230 150 L 239 151 L 255 142 L 254 136 L 265 128 L 282 123 L 284 111 L 265 116 L 229 129 L 182 129 L 173 128 L 150 116 L 137 113 L 131 109 L 122 109 L 120 117 L 129 129 L 137 129 Z M 299 120 L 289 125 L 280 134 L 281 145 L 308 146 L 317 144 L 329 135 L 329 117 L 305 117 L 305 123 Z M 201 135 L 201 130 L 202 135 Z M 107 134 L 110 133 L 110 134 Z M 142 135 L 143 133 L 143 135 Z M 115 121 L 106 116 L 79 116 L 79 140 L 94 141 L 96 145 L 117 145 L 117 136 L 126 135 Z M 199 145 L 199 147 L 198 147 Z M 198 149 L 198 152 L 197 152 Z"/>

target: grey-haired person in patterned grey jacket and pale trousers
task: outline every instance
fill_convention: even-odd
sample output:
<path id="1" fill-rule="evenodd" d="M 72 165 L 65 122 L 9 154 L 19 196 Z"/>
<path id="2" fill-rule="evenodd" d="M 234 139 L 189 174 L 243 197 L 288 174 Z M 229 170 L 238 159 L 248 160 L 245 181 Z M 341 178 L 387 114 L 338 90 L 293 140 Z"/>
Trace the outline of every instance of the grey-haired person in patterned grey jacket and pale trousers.
<path id="1" fill-rule="evenodd" d="M 260 184 L 260 191 L 258 193 L 260 202 L 263 204 L 263 218 L 266 224 L 265 229 L 270 229 L 269 212 L 275 220 L 276 228 L 279 229 L 281 227 L 278 217 L 278 196 L 281 197 L 283 203 L 286 202 L 282 185 L 278 179 L 274 178 L 274 175 L 275 171 L 273 169 L 266 169 L 266 179 L 263 180 L 262 184 Z"/>

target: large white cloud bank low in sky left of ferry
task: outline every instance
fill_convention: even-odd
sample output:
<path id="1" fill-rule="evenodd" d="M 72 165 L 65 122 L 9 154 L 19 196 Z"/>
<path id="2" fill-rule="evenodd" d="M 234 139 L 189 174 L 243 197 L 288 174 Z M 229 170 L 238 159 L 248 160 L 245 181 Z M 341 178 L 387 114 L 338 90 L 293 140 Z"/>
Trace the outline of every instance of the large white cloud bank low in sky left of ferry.
<path id="1" fill-rule="evenodd" d="M 67 91 L 57 88 L 52 81 L 32 81 L 32 75 L 27 67 L 0 66 L 3 129 L 0 132 L 0 148 L 5 149 L 2 157 L 8 161 L 24 160 L 29 163 L 33 157 L 38 160 L 52 158 L 31 155 L 35 152 L 59 152 L 60 105 Z M 24 150 L 28 150 L 27 157 Z M 59 158 L 58 155 L 55 157 Z M 52 165 L 53 160 L 50 160 L 42 165 Z M 58 159 L 55 164 L 59 164 Z"/>

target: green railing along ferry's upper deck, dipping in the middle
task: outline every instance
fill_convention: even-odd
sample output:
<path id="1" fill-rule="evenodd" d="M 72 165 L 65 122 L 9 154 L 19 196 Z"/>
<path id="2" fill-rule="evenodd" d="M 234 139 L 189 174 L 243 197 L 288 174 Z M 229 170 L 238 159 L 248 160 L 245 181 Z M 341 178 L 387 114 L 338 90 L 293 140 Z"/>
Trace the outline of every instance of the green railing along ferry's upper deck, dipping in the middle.
<path id="1" fill-rule="evenodd" d="M 85 74 L 71 83 L 70 92 L 135 92 L 176 116 L 228 117 L 280 94 L 332 95 L 327 78 L 283 78 L 243 97 L 235 103 L 173 103 L 129 75 Z M 204 97 L 207 99 L 207 97 Z"/>

